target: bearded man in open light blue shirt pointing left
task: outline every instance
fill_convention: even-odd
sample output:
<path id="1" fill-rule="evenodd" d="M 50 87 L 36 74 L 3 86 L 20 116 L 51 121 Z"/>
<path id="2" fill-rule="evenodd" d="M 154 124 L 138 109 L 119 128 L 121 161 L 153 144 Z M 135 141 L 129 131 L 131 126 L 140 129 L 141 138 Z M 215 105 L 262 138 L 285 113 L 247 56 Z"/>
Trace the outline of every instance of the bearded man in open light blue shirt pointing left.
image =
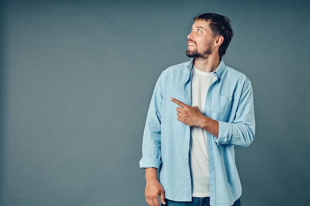
<path id="1" fill-rule="evenodd" d="M 251 144 L 255 118 L 251 82 L 222 60 L 229 22 L 214 13 L 195 17 L 186 51 L 192 59 L 156 82 L 140 161 L 149 206 L 159 206 L 159 197 L 166 206 L 240 206 L 234 146 Z"/>

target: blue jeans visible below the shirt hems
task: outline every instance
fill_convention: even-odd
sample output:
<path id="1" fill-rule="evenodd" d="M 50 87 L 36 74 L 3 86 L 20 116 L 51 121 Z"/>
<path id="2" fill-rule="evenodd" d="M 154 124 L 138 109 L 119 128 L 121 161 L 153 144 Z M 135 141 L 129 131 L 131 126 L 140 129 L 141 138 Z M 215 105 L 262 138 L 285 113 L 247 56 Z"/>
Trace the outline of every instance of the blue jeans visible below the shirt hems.
<path id="1" fill-rule="evenodd" d="M 166 205 L 161 206 L 210 206 L 210 198 L 192 198 L 192 202 L 165 201 Z M 241 206 L 240 199 L 236 200 L 233 206 Z"/>

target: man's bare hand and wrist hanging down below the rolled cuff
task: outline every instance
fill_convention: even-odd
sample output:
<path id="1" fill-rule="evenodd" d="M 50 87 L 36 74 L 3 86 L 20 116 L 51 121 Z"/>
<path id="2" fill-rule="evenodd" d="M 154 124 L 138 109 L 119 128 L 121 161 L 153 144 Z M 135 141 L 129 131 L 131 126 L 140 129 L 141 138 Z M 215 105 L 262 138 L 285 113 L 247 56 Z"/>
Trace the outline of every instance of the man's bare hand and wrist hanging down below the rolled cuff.
<path id="1" fill-rule="evenodd" d="M 146 168 L 145 169 L 146 187 L 145 187 L 145 199 L 149 206 L 159 206 L 158 197 L 160 201 L 165 205 L 165 191 L 157 179 L 157 169 Z"/>

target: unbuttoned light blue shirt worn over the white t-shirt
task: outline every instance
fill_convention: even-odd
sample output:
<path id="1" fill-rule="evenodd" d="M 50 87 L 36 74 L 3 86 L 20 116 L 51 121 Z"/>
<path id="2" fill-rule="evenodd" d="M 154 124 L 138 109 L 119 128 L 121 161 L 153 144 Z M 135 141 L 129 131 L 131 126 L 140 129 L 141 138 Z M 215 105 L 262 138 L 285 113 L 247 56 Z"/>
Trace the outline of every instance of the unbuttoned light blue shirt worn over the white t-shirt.
<path id="1" fill-rule="evenodd" d="M 174 65 L 159 76 L 151 99 L 142 143 L 141 168 L 159 170 L 165 197 L 192 200 L 189 164 L 190 126 L 177 120 L 174 97 L 191 105 L 194 59 Z M 247 147 L 255 135 L 253 90 L 249 79 L 221 60 L 207 92 L 202 113 L 218 121 L 218 138 L 207 132 L 210 206 L 232 206 L 241 196 L 234 145 Z"/>

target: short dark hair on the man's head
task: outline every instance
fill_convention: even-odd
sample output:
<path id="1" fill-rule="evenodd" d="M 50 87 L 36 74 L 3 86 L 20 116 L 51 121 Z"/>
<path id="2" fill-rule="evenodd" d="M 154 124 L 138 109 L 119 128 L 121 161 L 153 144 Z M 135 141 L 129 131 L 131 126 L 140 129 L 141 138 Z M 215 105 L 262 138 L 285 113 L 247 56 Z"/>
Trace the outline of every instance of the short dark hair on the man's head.
<path id="1" fill-rule="evenodd" d="M 234 35 L 234 32 L 230 26 L 230 20 L 226 16 L 222 16 L 215 13 L 205 13 L 198 15 L 194 18 L 194 21 L 205 20 L 209 22 L 210 29 L 215 36 L 223 36 L 224 41 L 218 49 L 219 57 L 224 56 L 226 49 Z"/>

